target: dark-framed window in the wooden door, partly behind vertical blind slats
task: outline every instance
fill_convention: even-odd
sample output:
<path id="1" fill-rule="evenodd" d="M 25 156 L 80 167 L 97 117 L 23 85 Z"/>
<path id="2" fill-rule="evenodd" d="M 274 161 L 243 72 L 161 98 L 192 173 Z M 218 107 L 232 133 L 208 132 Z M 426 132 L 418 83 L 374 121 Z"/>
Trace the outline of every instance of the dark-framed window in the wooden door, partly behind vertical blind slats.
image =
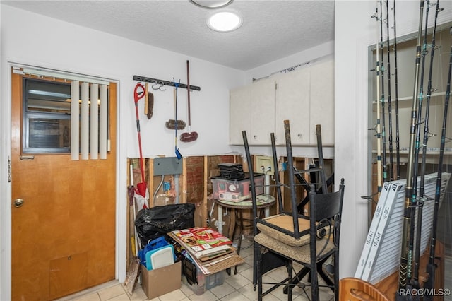
<path id="1" fill-rule="evenodd" d="M 88 85 L 87 85 L 88 87 Z M 98 89 L 98 85 L 91 85 L 88 89 Z M 81 88 L 78 89 L 78 95 L 81 95 Z M 92 95 L 88 92 L 88 95 Z M 99 95 L 99 93 L 95 93 Z M 107 95 L 108 100 L 108 95 Z M 88 135 L 88 148 L 90 148 L 93 139 L 96 139 L 95 153 L 99 152 L 99 146 L 107 143 L 100 143 L 100 139 L 107 139 L 105 135 L 100 134 L 100 129 L 108 126 L 101 126 L 99 100 L 94 102 L 88 97 L 88 116 L 85 122 L 88 122 L 88 128 L 95 126 L 96 134 Z M 91 110 L 92 104 L 97 105 L 96 110 Z M 81 110 L 81 101 L 79 101 L 78 112 Z M 71 133 L 78 135 L 78 141 L 82 140 L 82 118 L 78 114 L 78 131 L 71 131 L 71 83 L 67 81 L 49 81 L 42 78 L 23 77 L 23 130 L 22 130 L 22 153 L 25 155 L 46 154 L 46 153 L 70 153 L 71 152 Z M 94 117 L 96 120 L 93 122 Z M 77 145 L 78 152 L 81 152 L 81 145 Z"/>

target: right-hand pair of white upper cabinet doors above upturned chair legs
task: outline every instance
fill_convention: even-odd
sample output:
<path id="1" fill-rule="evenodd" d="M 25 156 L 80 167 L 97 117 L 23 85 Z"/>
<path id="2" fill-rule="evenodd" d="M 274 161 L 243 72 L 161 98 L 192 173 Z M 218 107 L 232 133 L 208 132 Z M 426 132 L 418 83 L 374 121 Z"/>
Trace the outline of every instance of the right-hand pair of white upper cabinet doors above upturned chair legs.
<path id="1" fill-rule="evenodd" d="M 327 60 L 278 76 L 276 129 L 278 144 L 285 143 L 285 119 L 290 120 L 294 145 L 315 145 L 316 125 L 322 144 L 334 144 L 334 61 Z M 283 140 L 281 140 L 282 138 Z"/>

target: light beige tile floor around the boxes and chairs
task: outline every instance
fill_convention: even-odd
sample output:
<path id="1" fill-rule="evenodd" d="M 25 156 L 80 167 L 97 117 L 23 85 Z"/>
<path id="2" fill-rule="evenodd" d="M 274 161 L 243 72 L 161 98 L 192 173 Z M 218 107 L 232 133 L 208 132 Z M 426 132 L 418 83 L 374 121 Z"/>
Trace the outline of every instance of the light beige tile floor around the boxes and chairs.
<path id="1" fill-rule="evenodd" d="M 153 299 L 153 301 L 246 301 L 257 300 L 257 292 L 253 289 L 253 249 L 249 240 L 242 242 L 242 250 L 240 256 L 245 259 L 245 263 L 241 264 L 238 268 L 237 275 L 234 275 L 234 269 L 232 268 L 231 275 L 225 276 L 225 281 L 222 285 L 215 286 L 210 290 L 206 290 L 202 295 L 196 295 L 193 290 L 186 284 L 186 281 L 182 281 L 182 287 L 179 290 L 174 290 L 171 293 L 162 295 Z M 263 281 L 280 281 L 287 274 L 285 273 L 285 267 L 277 268 L 268 272 L 264 276 Z M 265 286 L 264 286 L 265 290 Z M 333 291 L 329 288 L 320 288 L 321 301 L 333 301 Z M 309 288 L 306 288 L 307 295 L 310 295 Z M 129 297 L 124 290 L 123 285 L 118 281 L 109 281 L 95 288 L 84 290 L 83 292 L 76 293 L 59 299 L 58 301 L 143 301 L 148 300 L 143 289 L 137 284 L 133 295 Z M 287 295 L 283 293 L 283 288 L 274 290 L 269 295 L 264 297 L 264 300 L 268 301 L 280 301 L 287 300 Z M 295 288 L 293 290 L 292 300 L 304 301 L 309 300 L 301 288 Z"/>

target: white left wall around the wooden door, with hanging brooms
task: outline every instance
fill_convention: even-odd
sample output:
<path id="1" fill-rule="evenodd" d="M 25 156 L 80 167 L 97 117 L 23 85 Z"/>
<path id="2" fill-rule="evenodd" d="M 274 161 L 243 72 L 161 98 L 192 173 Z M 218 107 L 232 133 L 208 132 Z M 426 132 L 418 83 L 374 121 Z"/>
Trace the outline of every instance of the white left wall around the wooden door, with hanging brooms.
<path id="1" fill-rule="evenodd" d="M 11 120 L 11 81 L 8 63 L 29 64 L 92 76 L 110 78 L 119 83 L 117 99 L 117 277 L 124 281 L 126 252 L 126 158 L 139 156 L 136 116 L 133 102 L 133 75 L 186 83 L 186 60 L 190 61 L 190 83 L 201 91 L 191 93 L 191 129 L 198 140 L 180 143 L 182 155 L 230 153 L 227 123 L 229 89 L 244 83 L 243 71 L 207 61 L 168 52 L 139 42 L 83 28 L 71 23 L 22 11 L 4 4 L 1 8 L 1 234 L 0 234 L 0 300 L 11 294 L 11 185 L 7 182 L 6 162 L 10 155 L 9 124 Z M 92 46 L 90 46 L 92 45 Z M 174 119 L 171 87 L 154 92 L 154 110 L 148 120 L 141 100 L 141 138 L 143 155 L 174 156 L 174 131 L 165 121 Z M 186 117 L 186 90 L 179 89 L 180 119 Z M 223 122 L 222 122 L 223 120 Z M 180 132 L 182 133 L 182 131 Z M 178 134 L 179 136 L 179 134 Z"/>

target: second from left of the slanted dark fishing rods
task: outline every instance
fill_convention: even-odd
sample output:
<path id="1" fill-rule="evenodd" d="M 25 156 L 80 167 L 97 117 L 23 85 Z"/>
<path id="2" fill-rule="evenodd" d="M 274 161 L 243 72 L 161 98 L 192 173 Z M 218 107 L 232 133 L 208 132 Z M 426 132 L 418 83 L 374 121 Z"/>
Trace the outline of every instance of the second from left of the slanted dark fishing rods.
<path id="1" fill-rule="evenodd" d="M 424 29 L 424 41 L 422 42 L 422 62 L 421 62 L 421 76 L 420 76 L 420 87 L 419 87 L 419 106 L 417 109 L 417 124 L 416 124 L 416 143 L 415 143 L 415 163 L 414 163 L 414 180 L 413 180 L 413 193 L 417 195 L 415 207 L 412 209 L 412 215 L 414 216 L 417 211 L 416 224 L 412 225 L 410 228 L 410 249 L 414 254 L 414 266 L 413 266 L 413 276 L 412 276 L 412 286 L 413 288 L 420 288 L 419 283 L 419 260 L 420 260 L 420 245 L 421 245 L 421 229 L 422 229 L 422 210 L 424 207 L 424 197 L 420 193 L 417 193 L 417 175 L 419 169 L 419 152 L 420 152 L 420 132 L 422 122 L 422 102 L 424 100 L 424 71 L 425 71 L 425 57 L 427 54 L 427 25 L 429 23 L 429 11 L 430 11 L 430 0 L 427 0 L 427 11 L 425 13 L 425 29 Z M 427 114 L 427 113 L 426 113 Z M 425 178 L 425 175 L 420 174 L 421 179 Z M 412 217 L 413 217 L 412 216 Z M 414 235 L 416 232 L 416 241 L 414 242 Z M 408 278 L 408 281 L 411 279 Z"/>

